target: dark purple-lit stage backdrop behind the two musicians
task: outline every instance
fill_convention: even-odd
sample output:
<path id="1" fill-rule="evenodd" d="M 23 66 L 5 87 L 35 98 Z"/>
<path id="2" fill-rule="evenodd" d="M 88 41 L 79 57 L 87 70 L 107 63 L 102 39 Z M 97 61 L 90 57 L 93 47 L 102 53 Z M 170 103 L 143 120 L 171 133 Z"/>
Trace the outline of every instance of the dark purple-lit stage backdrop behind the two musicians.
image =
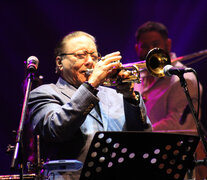
<path id="1" fill-rule="evenodd" d="M 13 154 L 24 99 L 24 61 L 31 55 L 40 63 L 43 83 L 56 82 L 53 49 L 71 31 L 94 35 L 101 54 L 121 51 L 123 63 L 137 60 L 134 34 L 148 20 L 164 23 L 177 56 L 207 48 L 206 0 L 7 0 L 0 2 L 1 126 L 0 174 L 11 174 Z M 206 89 L 207 62 L 191 65 Z M 202 98 L 205 107 L 206 98 Z M 206 112 L 203 113 L 205 124 Z"/>

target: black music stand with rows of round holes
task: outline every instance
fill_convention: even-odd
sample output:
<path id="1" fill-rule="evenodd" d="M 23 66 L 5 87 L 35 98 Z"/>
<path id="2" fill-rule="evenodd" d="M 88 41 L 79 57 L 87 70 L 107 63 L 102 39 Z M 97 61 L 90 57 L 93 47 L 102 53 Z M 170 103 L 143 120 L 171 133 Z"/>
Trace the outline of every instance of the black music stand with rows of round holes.
<path id="1" fill-rule="evenodd" d="M 97 132 L 80 180 L 183 180 L 199 137 L 156 132 Z"/>

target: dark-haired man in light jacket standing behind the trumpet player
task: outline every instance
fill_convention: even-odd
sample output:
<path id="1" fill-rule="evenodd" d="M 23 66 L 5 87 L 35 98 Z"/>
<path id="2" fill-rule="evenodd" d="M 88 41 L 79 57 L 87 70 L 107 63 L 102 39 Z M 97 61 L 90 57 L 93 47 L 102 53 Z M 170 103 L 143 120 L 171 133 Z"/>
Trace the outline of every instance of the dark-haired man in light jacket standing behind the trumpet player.
<path id="1" fill-rule="evenodd" d="M 169 53 L 171 59 L 176 58 L 171 52 L 171 39 L 168 38 L 167 28 L 159 22 L 146 22 L 136 31 L 136 52 L 140 60 L 144 60 L 149 50 L 162 48 Z M 172 66 L 185 68 L 177 61 Z M 188 107 L 188 101 L 180 79 L 177 76 L 157 78 L 146 70 L 141 72 L 141 83 L 135 84 L 147 108 L 148 116 L 153 124 L 153 130 L 196 130 L 196 124 Z M 198 89 L 197 80 L 193 73 L 185 73 L 184 78 L 197 110 Z M 202 95 L 202 86 L 200 85 Z M 200 114 L 200 113 L 199 113 Z"/>

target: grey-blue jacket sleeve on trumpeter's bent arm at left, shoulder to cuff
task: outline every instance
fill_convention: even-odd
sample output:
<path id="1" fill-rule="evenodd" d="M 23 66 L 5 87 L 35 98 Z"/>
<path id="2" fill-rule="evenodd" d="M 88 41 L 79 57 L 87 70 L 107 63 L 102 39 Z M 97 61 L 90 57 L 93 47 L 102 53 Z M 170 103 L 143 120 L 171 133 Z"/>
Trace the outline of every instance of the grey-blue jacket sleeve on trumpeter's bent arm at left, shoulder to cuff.
<path id="1" fill-rule="evenodd" d="M 55 85 L 43 85 L 31 91 L 29 118 L 35 133 L 41 134 L 47 141 L 68 140 L 99 101 L 83 85 L 67 99 Z"/>

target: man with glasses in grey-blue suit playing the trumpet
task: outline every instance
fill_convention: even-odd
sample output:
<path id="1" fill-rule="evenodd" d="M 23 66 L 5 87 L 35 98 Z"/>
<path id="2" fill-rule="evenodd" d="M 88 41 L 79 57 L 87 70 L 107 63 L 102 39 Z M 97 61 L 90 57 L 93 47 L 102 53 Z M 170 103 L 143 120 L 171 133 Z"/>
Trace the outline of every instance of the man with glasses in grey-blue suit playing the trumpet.
<path id="1" fill-rule="evenodd" d="M 84 162 L 97 131 L 151 131 L 144 101 L 132 83 L 117 90 L 101 86 L 119 69 L 120 52 L 98 61 L 95 38 L 75 31 L 62 39 L 55 57 L 57 83 L 41 85 L 29 97 L 30 121 L 41 136 L 44 159 Z"/>

